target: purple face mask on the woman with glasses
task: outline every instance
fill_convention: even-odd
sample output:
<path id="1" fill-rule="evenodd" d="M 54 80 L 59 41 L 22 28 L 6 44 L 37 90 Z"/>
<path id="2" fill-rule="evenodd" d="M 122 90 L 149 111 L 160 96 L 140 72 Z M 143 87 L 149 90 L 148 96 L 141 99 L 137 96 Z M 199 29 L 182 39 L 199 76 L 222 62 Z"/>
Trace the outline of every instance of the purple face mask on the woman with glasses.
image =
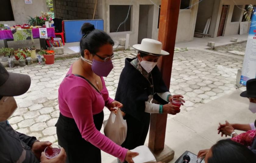
<path id="1" fill-rule="evenodd" d="M 92 62 L 92 71 L 98 75 L 98 76 L 104 76 L 104 77 L 107 77 L 108 74 L 110 73 L 110 71 L 113 69 L 113 64 L 112 64 L 112 60 L 109 59 L 108 61 L 106 62 L 100 62 L 100 61 L 97 61 L 95 59 L 93 59 L 93 62 Z"/>

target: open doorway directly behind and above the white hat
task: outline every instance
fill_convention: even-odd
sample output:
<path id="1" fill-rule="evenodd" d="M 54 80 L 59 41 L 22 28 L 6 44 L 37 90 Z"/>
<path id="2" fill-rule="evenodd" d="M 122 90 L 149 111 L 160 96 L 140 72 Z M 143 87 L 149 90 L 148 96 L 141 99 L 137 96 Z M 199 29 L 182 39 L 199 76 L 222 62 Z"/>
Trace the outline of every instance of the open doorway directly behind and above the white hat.
<path id="1" fill-rule="evenodd" d="M 140 5 L 138 44 L 144 38 L 152 38 L 154 5 Z"/>

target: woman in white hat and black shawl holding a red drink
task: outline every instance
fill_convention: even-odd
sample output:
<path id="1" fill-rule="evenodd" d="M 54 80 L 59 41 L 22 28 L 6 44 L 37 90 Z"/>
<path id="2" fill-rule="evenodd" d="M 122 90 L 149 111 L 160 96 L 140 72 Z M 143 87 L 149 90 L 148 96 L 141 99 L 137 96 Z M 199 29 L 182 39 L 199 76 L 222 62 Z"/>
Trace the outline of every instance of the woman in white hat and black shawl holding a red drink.
<path id="1" fill-rule="evenodd" d="M 150 113 L 176 115 L 180 112 L 179 107 L 169 102 L 173 98 L 185 102 L 182 95 L 171 95 L 156 66 L 160 56 L 169 55 L 162 50 L 162 43 L 144 38 L 133 48 L 138 51 L 137 58 L 125 59 L 115 98 L 123 104 L 121 110 L 127 122 L 127 136 L 122 147 L 127 149 L 144 145 Z M 153 98 L 160 104 L 152 103 Z"/>

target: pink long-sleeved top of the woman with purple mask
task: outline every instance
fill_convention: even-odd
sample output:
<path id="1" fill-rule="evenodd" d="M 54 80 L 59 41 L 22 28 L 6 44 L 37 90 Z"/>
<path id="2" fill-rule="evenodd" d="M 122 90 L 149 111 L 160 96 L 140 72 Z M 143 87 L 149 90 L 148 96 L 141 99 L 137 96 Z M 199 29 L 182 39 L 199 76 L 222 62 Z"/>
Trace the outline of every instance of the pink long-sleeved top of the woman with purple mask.
<path id="1" fill-rule="evenodd" d="M 72 74 L 65 77 L 59 87 L 59 110 L 62 115 L 73 118 L 82 137 L 121 161 L 125 160 L 127 149 L 120 147 L 95 127 L 93 115 L 102 112 L 104 106 L 110 108 L 113 99 L 108 96 L 104 79 L 101 77 L 101 94 L 95 90 L 85 79 Z"/>

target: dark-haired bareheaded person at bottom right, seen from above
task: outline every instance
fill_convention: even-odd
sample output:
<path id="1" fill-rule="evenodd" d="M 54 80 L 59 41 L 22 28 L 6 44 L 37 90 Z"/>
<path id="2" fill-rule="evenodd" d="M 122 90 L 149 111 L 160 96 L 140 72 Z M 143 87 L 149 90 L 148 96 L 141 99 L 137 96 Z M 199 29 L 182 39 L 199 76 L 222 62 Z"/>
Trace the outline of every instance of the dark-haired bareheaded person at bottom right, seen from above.
<path id="1" fill-rule="evenodd" d="M 244 145 L 232 140 L 220 140 L 211 149 L 201 150 L 197 158 L 205 163 L 254 163 L 256 156 Z"/>

